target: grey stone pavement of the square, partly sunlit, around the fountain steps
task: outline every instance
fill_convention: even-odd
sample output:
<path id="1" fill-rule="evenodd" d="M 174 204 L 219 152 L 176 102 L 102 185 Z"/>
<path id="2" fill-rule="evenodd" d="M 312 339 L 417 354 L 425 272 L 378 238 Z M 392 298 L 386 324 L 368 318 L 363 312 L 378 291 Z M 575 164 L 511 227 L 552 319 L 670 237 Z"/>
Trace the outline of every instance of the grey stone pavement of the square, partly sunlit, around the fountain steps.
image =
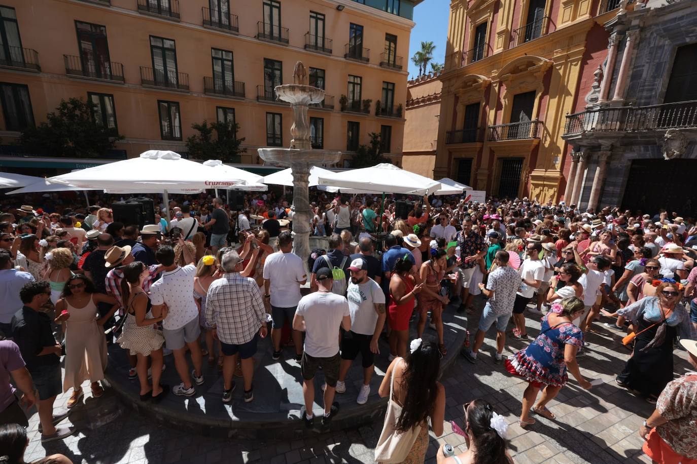
<path id="1" fill-rule="evenodd" d="M 482 307 L 482 301 L 477 301 Z M 468 328 L 474 333 L 478 316 L 470 316 Z M 434 463 L 441 443 L 464 450 L 464 439 L 452 433 L 450 421 L 462 426 L 461 405 L 475 398 L 487 398 L 503 414 L 510 426 L 510 453 L 516 463 L 650 463 L 642 451 L 638 428 L 653 406 L 615 385 L 629 351 L 620 343 L 620 335 L 595 323 L 597 332 L 588 337 L 588 355 L 580 358 L 586 378 L 602 378 L 606 383 L 585 391 L 572 380 L 550 403 L 557 419 L 535 416 L 537 424 L 521 429 L 516 421 L 526 383 L 493 364 L 493 329 L 486 339 L 475 365 L 458 358 L 443 378 L 447 392 L 445 432 L 440 438 L 431 434 L 427 463 Z M 528 314 L 528 333 L 539 332 L 539 316 Z M 507 340 L 505 355 L 525 344 Z M 688 370 L 684 351 L 675 351 L 675 370 Z M 372 463 L 373 449 L 382 424 L 358 430 L 317 435 L 305 440 L 251 442 L 206 438 L 184 433 L 146 421 L 124 408 L 112 392 L 92 399 L 89 383 L 86 401 L 70 416 L 79 431 L 62 442 L 42 445 L 37 431 L 38 416 L 33 411 L 29 425 L 26 461 L 52 453 L 63 453 L 75 463 Z M 68 395 L 56 401 L 64 406 Z"/>

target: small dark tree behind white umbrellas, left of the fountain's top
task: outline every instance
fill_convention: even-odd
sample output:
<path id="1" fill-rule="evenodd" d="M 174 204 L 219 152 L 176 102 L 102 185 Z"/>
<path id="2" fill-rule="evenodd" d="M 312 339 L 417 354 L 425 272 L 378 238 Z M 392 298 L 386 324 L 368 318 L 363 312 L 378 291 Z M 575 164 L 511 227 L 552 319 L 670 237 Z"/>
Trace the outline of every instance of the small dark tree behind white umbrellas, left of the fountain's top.
<path id="1" fill-rule="evenodd" d="M 237 138 L 237 131 L 240 130 L 237 122 L 218 121 L 209 125 L 204 120 L 191 127 L 199 132 L 186 139 L 187 152 L 193 159 L 220 159 L 224 163 L 239 163 L 240 153 L 247 151 L 246 148 L 240 148 L 245 138 Z"/>

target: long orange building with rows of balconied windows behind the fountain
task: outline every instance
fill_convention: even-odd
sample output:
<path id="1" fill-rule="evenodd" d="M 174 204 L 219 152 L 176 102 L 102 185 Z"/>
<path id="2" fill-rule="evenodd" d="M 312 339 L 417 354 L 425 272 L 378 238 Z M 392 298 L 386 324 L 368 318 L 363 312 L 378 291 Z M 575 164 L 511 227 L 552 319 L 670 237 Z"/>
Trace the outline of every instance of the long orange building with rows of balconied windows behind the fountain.
<path id="1" fill-rule="evenodd" d="M 312 145 L 341 150 L 345 161 L 378 132 L 401 164 L 403 57 L 420 1 L 6 0 L 0 137 L 11 144 L 61 99 L 82 97 L 124 136 L 121 157 L 185 152 L 192 124 L 233 119 L 247 148 L 240 162 L 258 164 L 257 147 L 290 143 L 292 111 L 273 88 L 292 83 L 302 61 L 326 93 L 309 109 Z M 85 165 L 6 154 L 3 168 Z"/>

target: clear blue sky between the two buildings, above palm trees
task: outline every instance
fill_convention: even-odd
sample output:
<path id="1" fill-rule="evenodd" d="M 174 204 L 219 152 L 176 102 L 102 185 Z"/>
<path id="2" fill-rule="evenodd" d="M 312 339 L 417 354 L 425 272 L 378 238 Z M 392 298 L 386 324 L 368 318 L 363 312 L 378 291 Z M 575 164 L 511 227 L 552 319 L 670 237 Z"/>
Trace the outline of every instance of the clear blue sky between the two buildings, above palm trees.
<path id="1" fill-rule="evenodd" d="M 411 57 L 421 49 L 421 42 L 434 42 L 434 59 L 436 63 L 445 61 L 445 41 L 447 40 L 447 15 L 450 13 L 450 2 L 447 0 L 424 0 L 414 8 L 416 26 L 411 30 L 409 56 L 404 59 L 409 63 L 409 78 L 419 74 L 418 67 L 411 62 Z M 427 71 L 431 69 L 428 66 Z"/>

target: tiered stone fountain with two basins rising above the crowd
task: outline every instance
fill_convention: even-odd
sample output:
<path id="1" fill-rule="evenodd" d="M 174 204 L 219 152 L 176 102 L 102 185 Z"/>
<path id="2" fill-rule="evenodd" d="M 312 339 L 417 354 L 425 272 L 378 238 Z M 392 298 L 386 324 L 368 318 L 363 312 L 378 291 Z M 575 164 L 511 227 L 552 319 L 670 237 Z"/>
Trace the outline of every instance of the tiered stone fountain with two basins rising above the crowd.
<path id="1" fill-rule="evenodd" d="M 339 161 L 342 152 L 330 150 L 313 150 L 310 145 L 309 118 L 307 106 L 321 103 L 324 90 L 307 84 L 305 65 L 296 63 L 293 70 L 293 83 L 277 86 L 274 90 L 279 99 L 291 104 L 293 125 L 291 125 L 291 146 L 289 148 L 259 148 L 259 157 L 271 166 L 291 168 L 293 173 L 293 253 L 307 261 L 310 253 L 309 233 L 309 169 L 312 166 L 334 164 Z"/>

